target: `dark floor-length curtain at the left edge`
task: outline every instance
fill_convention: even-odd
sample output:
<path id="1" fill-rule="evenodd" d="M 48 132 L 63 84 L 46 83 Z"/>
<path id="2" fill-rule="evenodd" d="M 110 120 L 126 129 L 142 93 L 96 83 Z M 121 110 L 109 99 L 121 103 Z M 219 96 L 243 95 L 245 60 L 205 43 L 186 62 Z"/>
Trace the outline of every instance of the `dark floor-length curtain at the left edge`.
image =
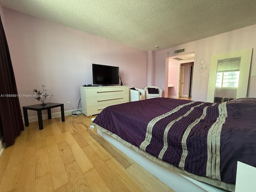
<path id="1" fill-rule="evenodd" d="M 0 17 L 0 127 L 6 146 L 24 130 L 10 52 Z"/>

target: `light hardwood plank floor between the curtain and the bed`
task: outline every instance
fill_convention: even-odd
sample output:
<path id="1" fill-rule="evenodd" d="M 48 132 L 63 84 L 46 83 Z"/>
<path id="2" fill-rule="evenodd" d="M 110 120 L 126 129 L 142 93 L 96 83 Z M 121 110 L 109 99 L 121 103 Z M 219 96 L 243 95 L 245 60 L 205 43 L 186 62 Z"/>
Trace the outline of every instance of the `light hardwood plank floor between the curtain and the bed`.
<path id="1" fill-rule="evenodd" d="M 90 130 L 92 116 L 38 122 L 0 156 L 0 192 L 173 192 Z"/>

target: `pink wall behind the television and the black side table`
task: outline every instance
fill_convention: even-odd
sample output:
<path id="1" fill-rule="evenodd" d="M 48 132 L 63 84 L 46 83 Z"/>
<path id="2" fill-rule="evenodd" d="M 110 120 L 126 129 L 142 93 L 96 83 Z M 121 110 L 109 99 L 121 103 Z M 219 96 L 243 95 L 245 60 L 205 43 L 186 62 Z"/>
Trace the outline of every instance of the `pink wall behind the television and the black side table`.
<path id="1" fill-rule="evenodd" d="M 119 66 L 124 85 L 147 85 L 147 51 L 2 8 L 18 94 L 32 94 L 44 84 L 51 102 L 77 108 L 80 86 L 92 84 L 92 63 Z M 20 97 L 20 105 L 39 104 Z M 59 110 L 53 109 L 53 112 Z M 28 116 L 36 115 L 28 111 Z"/>

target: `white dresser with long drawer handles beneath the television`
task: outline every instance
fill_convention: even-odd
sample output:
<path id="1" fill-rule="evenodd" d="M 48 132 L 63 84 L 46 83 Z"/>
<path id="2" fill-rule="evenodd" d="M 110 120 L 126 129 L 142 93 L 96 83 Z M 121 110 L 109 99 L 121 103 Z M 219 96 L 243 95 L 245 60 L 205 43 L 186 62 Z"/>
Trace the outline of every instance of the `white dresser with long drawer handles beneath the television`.
<path id="1" fill-rule="evenodd" d="M 99 114 L 104 108 L 129 102 L 129 86 L 80 87 L 82 113 Z"/>

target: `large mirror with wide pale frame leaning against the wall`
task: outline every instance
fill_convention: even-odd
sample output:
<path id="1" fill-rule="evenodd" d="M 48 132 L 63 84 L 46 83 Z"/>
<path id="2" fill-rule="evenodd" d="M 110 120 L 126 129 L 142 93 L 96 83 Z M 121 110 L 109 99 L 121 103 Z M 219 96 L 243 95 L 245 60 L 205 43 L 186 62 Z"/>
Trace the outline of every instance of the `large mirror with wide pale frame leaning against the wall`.
<path id="1" fill-rule="evenodd" d="M 252 49 L 211 57 L 207 102 L 246 97 Z"/>

